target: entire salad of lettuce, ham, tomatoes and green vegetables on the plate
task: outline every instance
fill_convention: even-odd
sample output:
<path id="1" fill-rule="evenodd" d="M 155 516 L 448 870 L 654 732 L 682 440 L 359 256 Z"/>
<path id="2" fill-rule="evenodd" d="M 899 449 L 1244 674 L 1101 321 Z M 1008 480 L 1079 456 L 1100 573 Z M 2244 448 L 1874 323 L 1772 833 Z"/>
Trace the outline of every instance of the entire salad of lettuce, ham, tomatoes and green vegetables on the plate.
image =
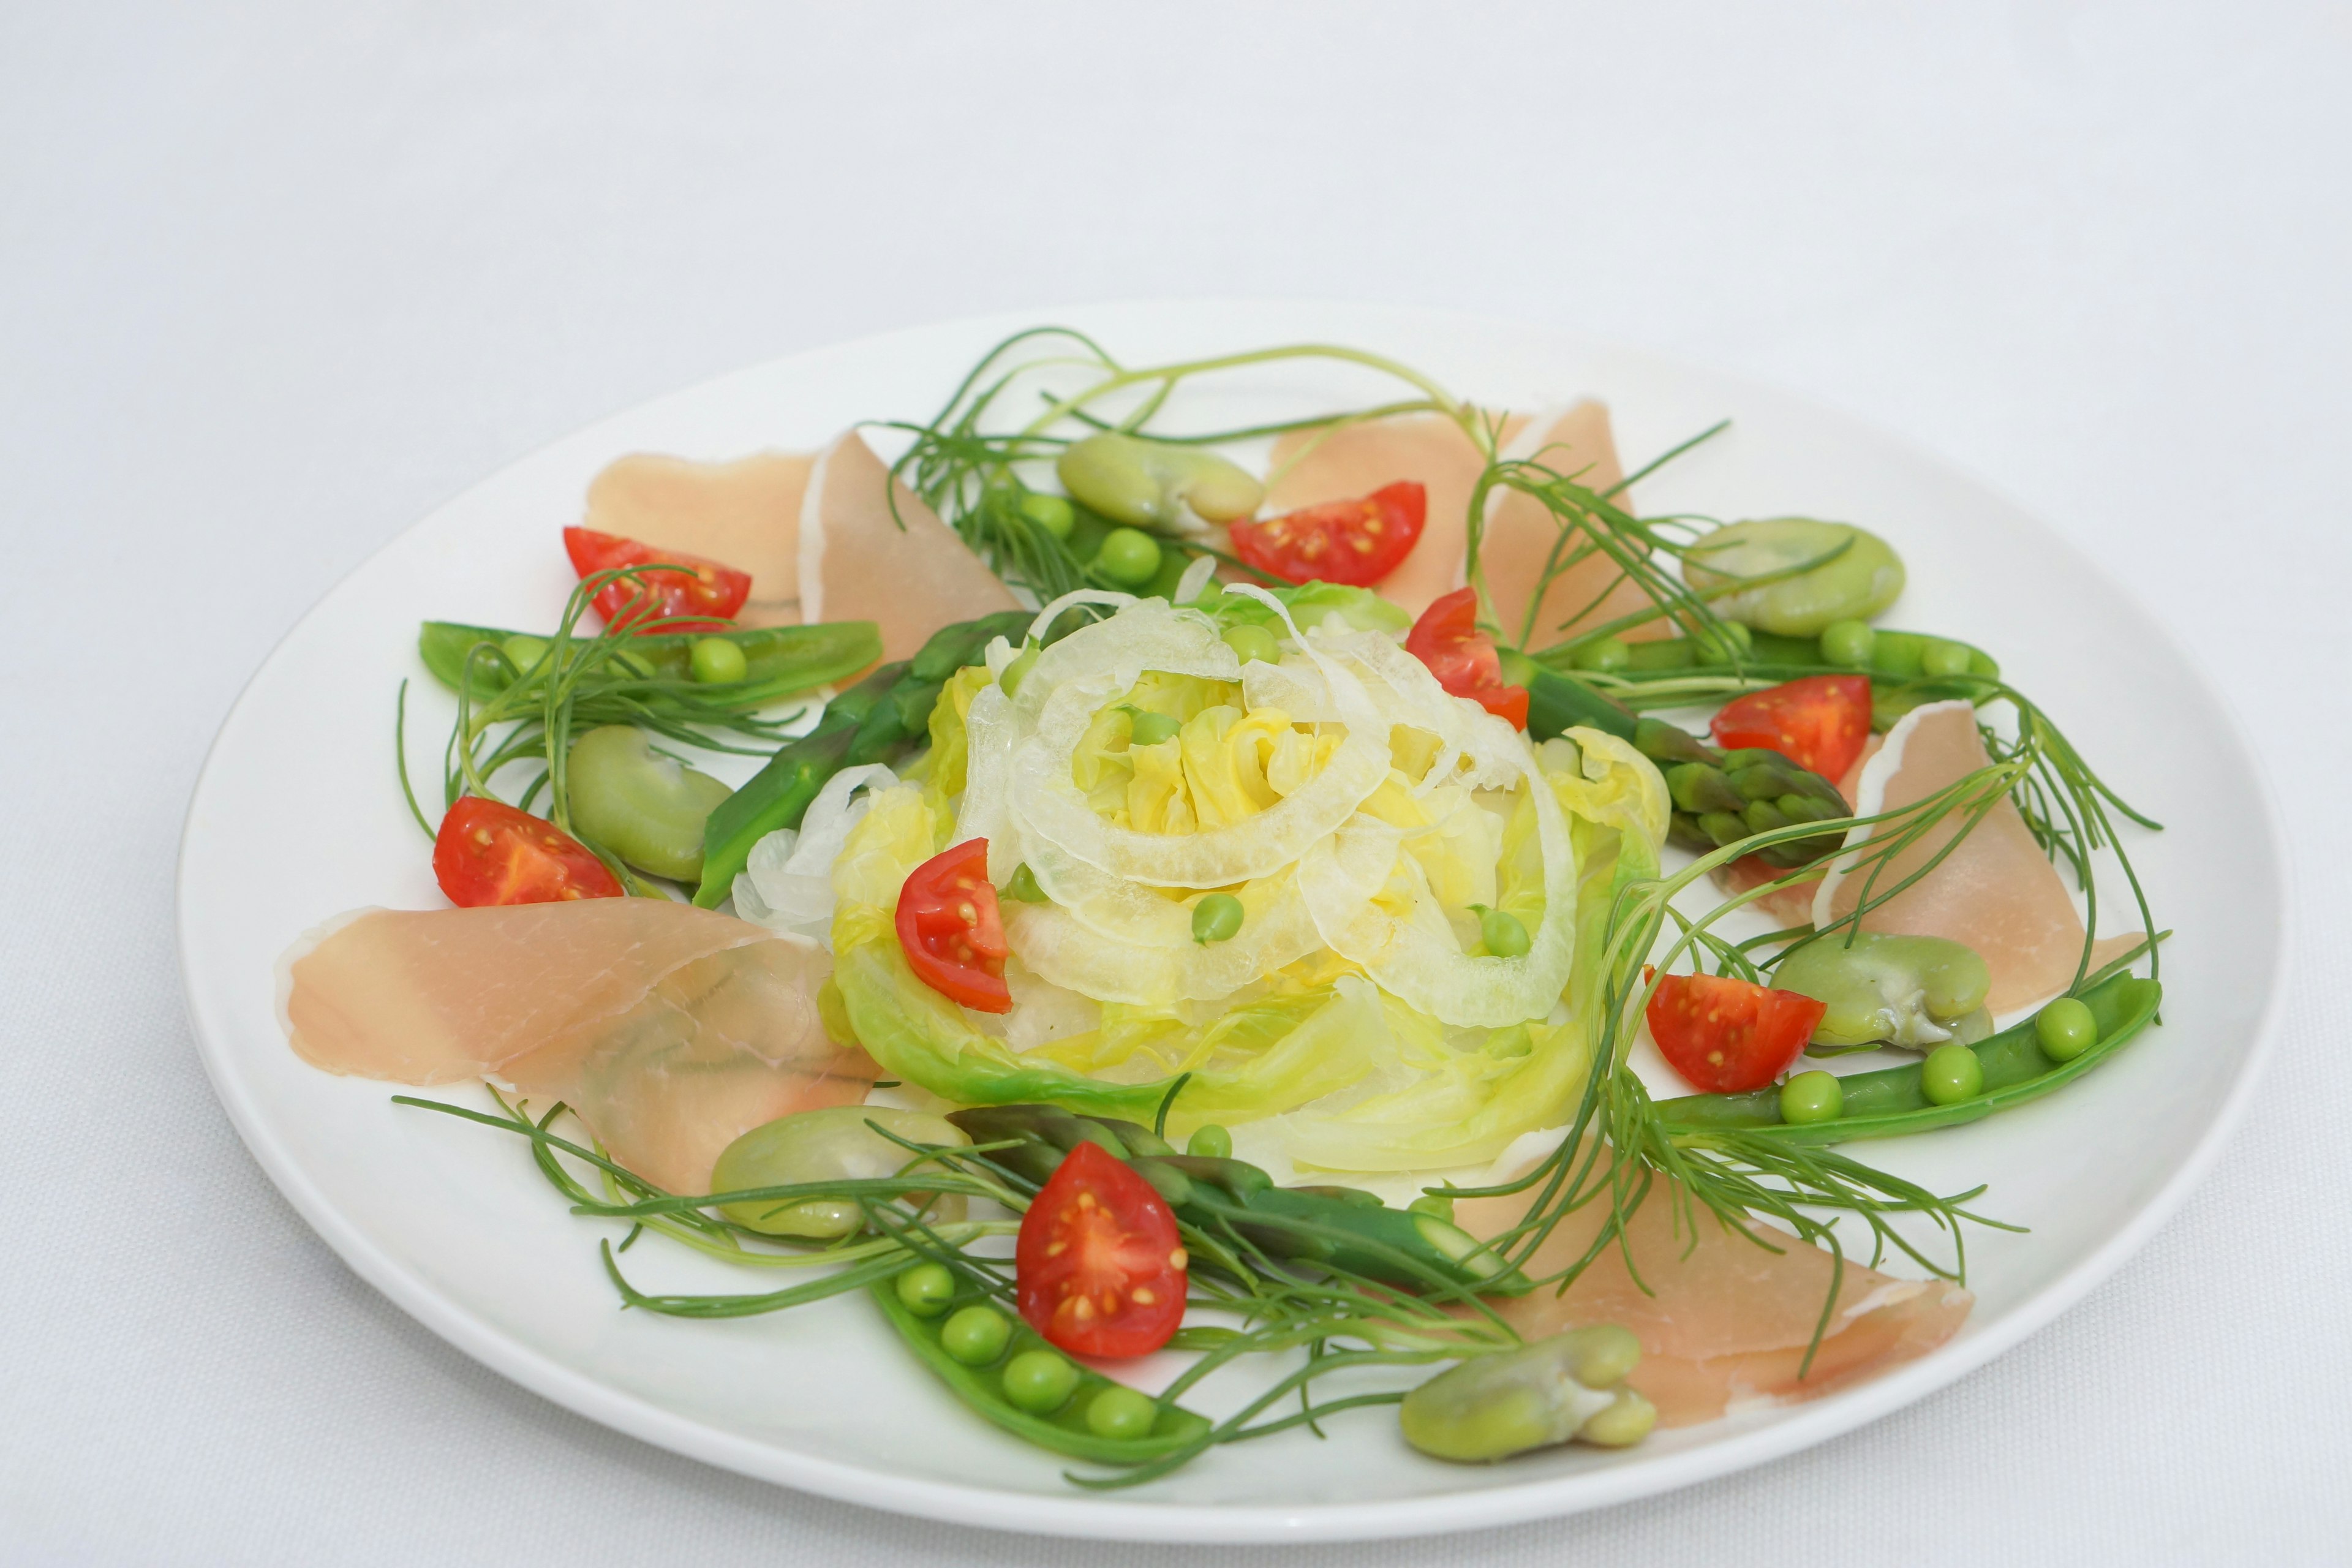
<path id="1" fill-rule="evenodd" d="M 1287 360 L 1399 393 L 1178 423 Z M 1715 430 L 1625 475 L 1599 404 L 1068 331 L 875 428 L 623 458 L 548 630 L 428 623 L 454 907 L 287 959 L 303 1058 L 482 1081 L 395 1103 L 628 1225 L 630 1309 L 863 1291 L 1080 1486 L 1364 1406 L 1625 1446 L 1950 1338 L 1983 1187 L 1839 1145 L 2154 1020 L 2154 823 L 1990 651 L 1875 623 L 1870 529 L 1642 517 Z M 642 1291 L 647 1234 L 786 1284 Z"/>

